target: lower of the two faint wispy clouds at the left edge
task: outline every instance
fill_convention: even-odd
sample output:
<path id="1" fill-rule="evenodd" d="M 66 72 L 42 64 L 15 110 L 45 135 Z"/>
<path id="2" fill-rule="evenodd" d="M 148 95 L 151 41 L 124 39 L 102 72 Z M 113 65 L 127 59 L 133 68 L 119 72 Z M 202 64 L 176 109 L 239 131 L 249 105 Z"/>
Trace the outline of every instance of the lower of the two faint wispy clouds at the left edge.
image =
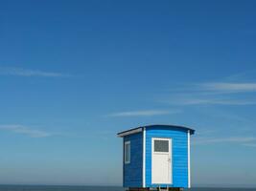
<path id="1" fill-rule="evenodd" d="M 29 127 L 17 124 L 0 125 L 0 130 L 29 136 L 31 138 L 46 138 L 52 136 L 52 134 L 49 134 L 47 132 L 31 129 Z"/>

